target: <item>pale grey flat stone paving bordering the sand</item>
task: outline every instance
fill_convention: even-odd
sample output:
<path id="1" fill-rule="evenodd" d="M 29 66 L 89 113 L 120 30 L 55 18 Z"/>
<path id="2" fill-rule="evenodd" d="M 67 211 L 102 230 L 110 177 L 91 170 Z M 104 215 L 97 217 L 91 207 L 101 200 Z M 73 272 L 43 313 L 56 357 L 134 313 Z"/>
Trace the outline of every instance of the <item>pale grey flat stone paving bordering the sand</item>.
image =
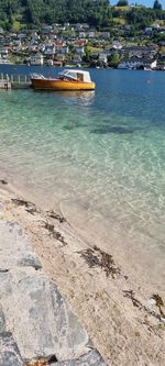
<path id="1" fill-rule="evenodd" d="M 105 366 L 57 286 L 42 271 L 21 228 L 1 221 L 0 232 L 0 336 L 4 348 L 0 366 L 22 366 L 20 357 L 28 363 L 51 355 L 58 361 L 53 365 Z"/>

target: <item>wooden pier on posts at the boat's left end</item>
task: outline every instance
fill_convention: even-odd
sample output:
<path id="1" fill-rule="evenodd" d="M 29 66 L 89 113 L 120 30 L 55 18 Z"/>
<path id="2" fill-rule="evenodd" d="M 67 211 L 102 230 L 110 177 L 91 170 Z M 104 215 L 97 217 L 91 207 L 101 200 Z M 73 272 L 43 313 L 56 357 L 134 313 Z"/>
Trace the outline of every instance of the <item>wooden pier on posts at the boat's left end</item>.
<path id="1" fill-rule="evenodd" d="M 30 76 L 0 74 L 0 89 L 25 89 L 31 87 Z"/>

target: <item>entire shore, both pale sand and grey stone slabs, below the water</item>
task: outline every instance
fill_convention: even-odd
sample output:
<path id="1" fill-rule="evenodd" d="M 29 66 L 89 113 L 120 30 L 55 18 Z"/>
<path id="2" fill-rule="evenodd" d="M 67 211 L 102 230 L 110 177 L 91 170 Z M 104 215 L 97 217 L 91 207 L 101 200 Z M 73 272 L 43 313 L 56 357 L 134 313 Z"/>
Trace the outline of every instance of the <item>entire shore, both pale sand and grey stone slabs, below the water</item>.
<path id="1" fill-rule="evenodd" d="M 163 295 L 16 198 L 0 189 L 0 366 L 163 365 Z"/>

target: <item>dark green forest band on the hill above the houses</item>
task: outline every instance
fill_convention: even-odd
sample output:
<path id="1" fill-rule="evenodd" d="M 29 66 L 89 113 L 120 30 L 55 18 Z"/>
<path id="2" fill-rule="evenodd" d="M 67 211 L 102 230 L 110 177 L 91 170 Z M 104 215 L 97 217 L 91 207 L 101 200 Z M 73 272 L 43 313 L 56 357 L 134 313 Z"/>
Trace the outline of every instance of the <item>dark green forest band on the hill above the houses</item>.
<path id="1" fill-rule="evenodd" d="M 155 19 L 165 20 L 158 0 L 154 1 L 153 9 L 134 7 L 123 12 L 120 7 L 125 4 L 125 0 L 119 0 L 118 7 L 111 7 L 109 0 L 0 0 L 0 26 L 11 30 L 18 20 L 29 26 L 70 22 L 88 23 L 99 29 L 122 18 L 134 29 L 142 30 Z"/>

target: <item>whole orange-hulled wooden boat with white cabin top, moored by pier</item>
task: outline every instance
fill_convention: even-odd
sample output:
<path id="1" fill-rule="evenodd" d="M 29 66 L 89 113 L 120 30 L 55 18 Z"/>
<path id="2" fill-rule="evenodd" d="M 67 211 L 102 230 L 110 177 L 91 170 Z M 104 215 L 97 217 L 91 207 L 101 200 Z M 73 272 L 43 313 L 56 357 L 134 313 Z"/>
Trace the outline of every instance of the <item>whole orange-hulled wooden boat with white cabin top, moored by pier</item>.
<path id="1" fill-rule="evenodd" d="M 43 75 L 31 76 L 32 87 L 43 90 L 94 90 L 96 85 L 90 79 L 89 71 L 66 69 L 57 78 L 46 78 Z"/>

